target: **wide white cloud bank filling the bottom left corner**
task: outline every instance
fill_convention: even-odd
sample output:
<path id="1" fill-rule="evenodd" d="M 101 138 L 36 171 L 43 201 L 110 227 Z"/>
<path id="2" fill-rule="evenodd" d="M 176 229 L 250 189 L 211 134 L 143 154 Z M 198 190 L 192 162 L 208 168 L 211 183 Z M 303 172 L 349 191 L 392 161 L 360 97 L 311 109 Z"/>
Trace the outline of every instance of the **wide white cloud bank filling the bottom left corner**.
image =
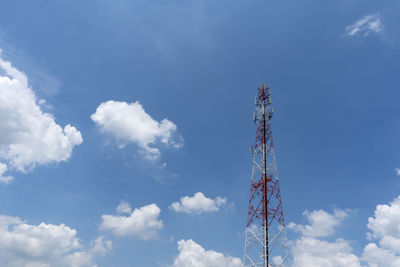
<path id="1" fill-rule="evenodd" d="M 104 255 L 110 248 L 110 241 L 100 237 L 85 251 L 76 230 L 64 224 L 30 225 L 18 217 L 0 215 L 0 266 L 93 266 L 94 255 Z"/>

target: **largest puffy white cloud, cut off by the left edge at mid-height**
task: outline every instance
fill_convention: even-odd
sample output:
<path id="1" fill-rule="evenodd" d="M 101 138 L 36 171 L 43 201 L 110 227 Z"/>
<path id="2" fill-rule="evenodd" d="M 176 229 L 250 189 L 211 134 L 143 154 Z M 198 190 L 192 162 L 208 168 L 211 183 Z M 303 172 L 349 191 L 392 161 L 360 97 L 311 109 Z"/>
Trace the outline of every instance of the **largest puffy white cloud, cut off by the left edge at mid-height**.
<path id="1" fill-rule="evenodd" d="M 7 170 L 29 172 L 37 165 L 66 161 L 82 143 L 71 125 L 62 128 L 39 100 L 24 73 L 0 58 L 0 182 L 9 183 Z"/>

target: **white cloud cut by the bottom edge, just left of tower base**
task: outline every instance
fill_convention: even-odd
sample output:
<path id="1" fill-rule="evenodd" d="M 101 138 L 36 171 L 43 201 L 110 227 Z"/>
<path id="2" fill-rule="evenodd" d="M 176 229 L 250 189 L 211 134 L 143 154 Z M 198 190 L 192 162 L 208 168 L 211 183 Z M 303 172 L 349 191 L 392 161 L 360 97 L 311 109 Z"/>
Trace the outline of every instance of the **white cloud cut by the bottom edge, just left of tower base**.
<path id="1" fill-rule="evenodd" d="M 191 239 L 180 240 L 178 250 L 173 267 L 244 267 L 239 258 L 205 250 Z"/>

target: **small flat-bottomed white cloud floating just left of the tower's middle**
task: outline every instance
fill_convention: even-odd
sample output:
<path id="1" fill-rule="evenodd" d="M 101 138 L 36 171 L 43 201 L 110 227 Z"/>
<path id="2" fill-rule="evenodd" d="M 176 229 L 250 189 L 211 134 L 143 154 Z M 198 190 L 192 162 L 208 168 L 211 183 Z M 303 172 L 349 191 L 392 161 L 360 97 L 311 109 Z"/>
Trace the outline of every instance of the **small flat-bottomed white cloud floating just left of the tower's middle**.
<path id="1" fill-rule="evenodd" d="M 181 197 L 180 202 L 172 203 L 170 208 L 176 212 L 200 214 L 203 212 L 219 211 L 220 207 L 225 205 L 226 202 L 226 198 L 216 197 L 215 199 L 211 199 L 203 193 L 198 192 L 193 197 Z"/>

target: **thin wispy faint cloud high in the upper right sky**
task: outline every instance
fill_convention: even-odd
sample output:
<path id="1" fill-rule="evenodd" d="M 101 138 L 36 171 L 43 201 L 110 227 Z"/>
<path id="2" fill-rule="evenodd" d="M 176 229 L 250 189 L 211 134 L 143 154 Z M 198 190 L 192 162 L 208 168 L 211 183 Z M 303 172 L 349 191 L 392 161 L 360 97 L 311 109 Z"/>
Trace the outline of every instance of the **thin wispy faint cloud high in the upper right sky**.
<path id="1" fill-rule="evenodd" d="M 383 25 L 379 18 L 379 13 L 367 15 L 350 26 L 346 27 L 345 34 L 354 36 L 361 34 L 368 36 L 372 33 L 380 33 L 383 31 Z"/>

